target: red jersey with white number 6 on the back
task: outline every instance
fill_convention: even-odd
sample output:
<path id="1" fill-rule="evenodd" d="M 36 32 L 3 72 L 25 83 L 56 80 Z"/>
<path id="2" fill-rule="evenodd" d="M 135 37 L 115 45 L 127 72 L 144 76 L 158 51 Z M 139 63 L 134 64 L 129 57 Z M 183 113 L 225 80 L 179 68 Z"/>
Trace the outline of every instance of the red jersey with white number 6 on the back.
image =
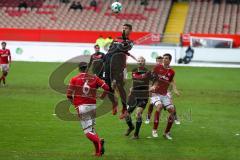
<path id="1" fill-rule="evenodd" d="M 67 97 L 72 97 L 75 107 L 96 104 L 96 92 L 99 87 L 109 91 L 108 85 L 102 79 L 88 73 L 80 73 L 70 80 Z"/>

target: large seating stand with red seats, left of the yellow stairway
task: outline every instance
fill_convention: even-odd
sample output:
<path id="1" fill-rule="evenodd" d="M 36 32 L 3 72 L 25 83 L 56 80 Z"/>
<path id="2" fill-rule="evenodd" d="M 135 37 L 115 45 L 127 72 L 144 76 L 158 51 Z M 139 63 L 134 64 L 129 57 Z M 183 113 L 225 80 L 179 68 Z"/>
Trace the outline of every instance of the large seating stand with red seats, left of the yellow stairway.
<path id="1" fill-rule="evenodd" d="M 148 2 L 144 6 L 139 1 L 123 0 L 122 5 L 128 7 L 116 15 L 110 10 L 112 0 L 98 0 L 96 10 L 89 0 L 81 0 L 83 11 L 69 10 L 71 3 L 59 0 L 35 1 L 34 6 L 28 3 L 28 8 L 21 9 L 18 0 L 3 0 L 0 28 L 120 31 L 121 24 L 131 23 L 134 31 L 163 33 L 172 0 Z"/>

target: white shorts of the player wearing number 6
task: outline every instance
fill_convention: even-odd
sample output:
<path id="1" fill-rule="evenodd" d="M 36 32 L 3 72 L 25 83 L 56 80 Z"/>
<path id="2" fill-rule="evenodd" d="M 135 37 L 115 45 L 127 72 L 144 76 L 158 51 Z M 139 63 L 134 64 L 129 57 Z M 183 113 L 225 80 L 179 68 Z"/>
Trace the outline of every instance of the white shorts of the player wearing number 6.
<path id="1" fill-rule="evenodd" d="M 80 105 L 77 109 L 84 133 L 94 132 L 93 126 L 95 125 L 96 105 Z"/>

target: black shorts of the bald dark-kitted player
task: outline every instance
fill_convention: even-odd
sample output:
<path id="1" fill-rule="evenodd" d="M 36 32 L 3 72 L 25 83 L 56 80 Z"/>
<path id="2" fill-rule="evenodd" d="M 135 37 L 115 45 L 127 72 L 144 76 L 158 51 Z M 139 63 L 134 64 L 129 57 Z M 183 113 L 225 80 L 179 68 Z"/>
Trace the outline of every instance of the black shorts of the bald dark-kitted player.
<path id="1" fill-rule="evenodd" d="M 128 112 L 132 113 L 136 107 L 146 108 L 148 103 L 148 98 L 137 98 L 135 95 L 130 95 L 128 97 Z"/>

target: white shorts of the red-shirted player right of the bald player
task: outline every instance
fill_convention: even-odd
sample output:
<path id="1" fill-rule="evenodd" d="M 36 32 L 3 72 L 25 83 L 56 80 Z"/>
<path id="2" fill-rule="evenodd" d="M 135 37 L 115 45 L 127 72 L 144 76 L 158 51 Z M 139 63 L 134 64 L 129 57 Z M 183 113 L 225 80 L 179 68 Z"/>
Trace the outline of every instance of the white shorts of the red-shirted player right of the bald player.
<path id="1" fill-rule="evenodd" d="M 169 97 L 168 94 L 166 95 L 153 94 L 151 97 L 151 103 L 155 106 L 162 104 L 163 107 L 165 107 L 166 109 L 174 107 L 172 104 L 172 99 L 171 97 Z"/>

